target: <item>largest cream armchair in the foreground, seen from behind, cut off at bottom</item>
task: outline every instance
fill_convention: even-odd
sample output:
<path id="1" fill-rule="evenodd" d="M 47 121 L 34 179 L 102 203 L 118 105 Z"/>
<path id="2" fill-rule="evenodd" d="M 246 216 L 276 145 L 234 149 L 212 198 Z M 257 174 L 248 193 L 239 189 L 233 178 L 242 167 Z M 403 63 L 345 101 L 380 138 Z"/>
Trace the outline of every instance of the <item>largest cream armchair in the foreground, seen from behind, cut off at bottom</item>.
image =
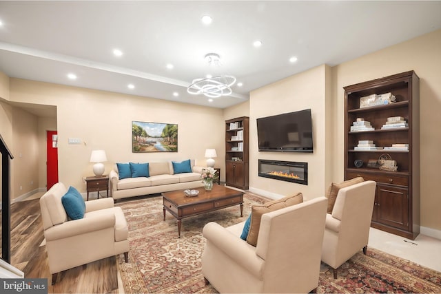
<path id="1" fill-rule="evenodd" d="M 308 293 L 317 288 L 327 199 L 264 213 L 254 247 L 240 239 L 245 222 L 209 222 L 202 273 L 220 293 Z"/>

